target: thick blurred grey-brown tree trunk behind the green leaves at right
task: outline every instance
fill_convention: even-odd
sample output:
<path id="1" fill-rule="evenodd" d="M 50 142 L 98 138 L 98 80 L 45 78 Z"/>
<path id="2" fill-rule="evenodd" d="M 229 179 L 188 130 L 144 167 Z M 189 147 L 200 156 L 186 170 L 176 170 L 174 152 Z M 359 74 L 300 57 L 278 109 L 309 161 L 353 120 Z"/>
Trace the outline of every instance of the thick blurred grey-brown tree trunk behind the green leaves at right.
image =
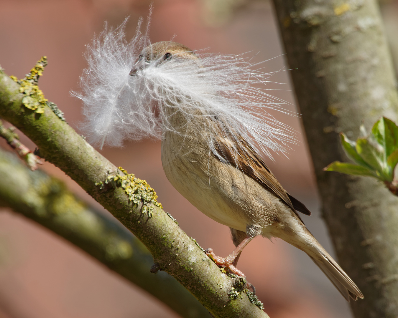
<path id="1" fill-rule="evenodd" d="M 390 50 L 373 0 L 274 0 L 306 132 L 322 211 L 341 266 L 364 300 L 355 317 L 398 317 L 398 198 L 373 178 L 322 168 L 348 161 L 339 132 L 350 139 L 364 120 L 397 122 Z"/>

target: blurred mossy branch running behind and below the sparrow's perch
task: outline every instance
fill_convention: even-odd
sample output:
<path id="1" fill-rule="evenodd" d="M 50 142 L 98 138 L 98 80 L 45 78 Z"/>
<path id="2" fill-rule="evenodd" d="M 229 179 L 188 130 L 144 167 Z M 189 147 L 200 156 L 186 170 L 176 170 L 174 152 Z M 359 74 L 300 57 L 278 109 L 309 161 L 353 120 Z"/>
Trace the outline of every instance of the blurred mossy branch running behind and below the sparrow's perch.
<path id="1" fill-rule="evenodd" d="M 150 273 L 152 255 L 118 221 L 87 206 L 60 180 L 43 171 L 29 171 L 15 155 L 2 149 L 0 206 L 10 207 L 64 237 L 181 317 L 210 317 L 176 279 L 164 272 Z"/>

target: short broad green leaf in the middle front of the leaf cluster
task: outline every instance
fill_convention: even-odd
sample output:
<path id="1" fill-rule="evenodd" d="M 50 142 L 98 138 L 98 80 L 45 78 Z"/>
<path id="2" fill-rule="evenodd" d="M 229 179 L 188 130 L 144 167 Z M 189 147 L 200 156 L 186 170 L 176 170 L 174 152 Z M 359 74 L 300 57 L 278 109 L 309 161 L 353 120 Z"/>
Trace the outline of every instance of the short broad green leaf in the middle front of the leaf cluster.
<path id="1" fill-rule="evenodd" d="M 355 149 L 367 164 L 379 171 L 381 175 L 389 178 L 390 169 L 386 162 L 384 148 L 381 145 L 371 142 L 367 138 L 358 138 Z"/>

